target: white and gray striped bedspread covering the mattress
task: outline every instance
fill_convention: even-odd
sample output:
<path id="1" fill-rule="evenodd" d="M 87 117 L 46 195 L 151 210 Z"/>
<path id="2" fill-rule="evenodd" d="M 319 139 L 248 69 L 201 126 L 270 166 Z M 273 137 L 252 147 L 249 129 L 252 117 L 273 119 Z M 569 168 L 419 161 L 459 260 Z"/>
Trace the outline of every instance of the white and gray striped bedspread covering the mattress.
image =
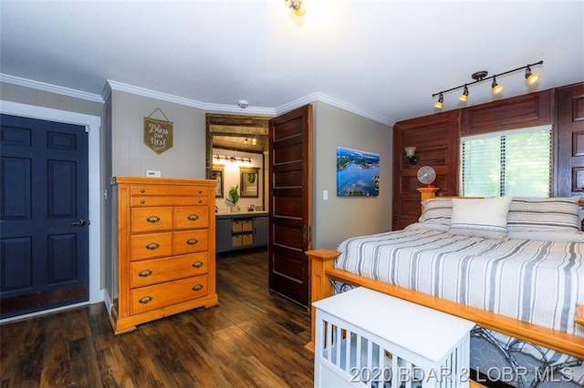
<path id="1" fill-rule="evenodd" d="M 584 243 L 561 240 L 489 240 L 417 223 L 343 241 L 335 267 L 584 338 L 574 322 Z"/>

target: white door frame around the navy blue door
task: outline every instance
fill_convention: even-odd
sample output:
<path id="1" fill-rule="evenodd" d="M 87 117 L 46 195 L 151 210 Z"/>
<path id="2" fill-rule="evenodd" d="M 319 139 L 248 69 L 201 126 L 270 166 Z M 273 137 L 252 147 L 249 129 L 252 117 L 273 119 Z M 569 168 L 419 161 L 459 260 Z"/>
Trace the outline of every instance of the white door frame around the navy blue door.
<path id="1" fill-rule="evenodd" d="M 91 220 L 91 224 L 89 225 L 89 301 L 70 304 L 57 309 L 19 315 L 14 318 L 0 320 L 0 322 L 9 322 L 16 319 L 20 320 L 28 316 L 70 309 L 75 306 L 103 301 L 104 291 L 101 289 L 101 194 L 99 189 L 99 177 L 101 176 L 99 160 L 99 129 L 101 127 L 101 117 L 48 107 L 36 107 L 34 105 L 19 104 L 4 100 L 0 100 L 0 113 L 58 121 L 61 123 L 76 124 L 85 127 L 85 130 L 89 135 L 89 220 Z"/>

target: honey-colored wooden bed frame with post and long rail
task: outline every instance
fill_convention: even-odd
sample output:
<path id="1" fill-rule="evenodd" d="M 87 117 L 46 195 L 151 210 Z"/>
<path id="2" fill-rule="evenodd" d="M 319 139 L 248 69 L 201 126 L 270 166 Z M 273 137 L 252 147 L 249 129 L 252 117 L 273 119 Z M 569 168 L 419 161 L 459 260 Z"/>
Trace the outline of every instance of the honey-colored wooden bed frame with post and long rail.
<path id="1" fill-rule="evenodd" d="M 423 190 L 423 189 L 422 189 Z M 422 192 L 422 199 L 433 197 L 436 189 Z M 580 199 L 580 206 L 584 206 L 584 200 Z M 475 307 L 448 301 L 419 291 L 412 291 L 395 286 L 383 281 L 375 281 L 348 271 L 341 271 L 333 267 L 334 260 L 339 256 L 335 250 L 308 250 L 306 252 L 310 261 L 311 276 L 311 301 L 319 301 L 333 295 L 333 287 L 330 280 L 342 281 L 356 286 L 381 291 L 391 296 L 412 301 L 438 311 L 475 322 L 477 325 L 495 332 L 500 332 L 519 340 L 531 342 L 548 349 L 562 352 L 584 360 L 584 338 L 566 332 L 549 329 L 533 323 L 523 322 L 505 315 L 491 311 L 484 311 Z M 312 308 L 312 333 L 311 342 L 307 348 L 314 351 L 314 322 L 315 309 Z M 576 319 L 584 326 L 584 305 L 577 305 Z"/>

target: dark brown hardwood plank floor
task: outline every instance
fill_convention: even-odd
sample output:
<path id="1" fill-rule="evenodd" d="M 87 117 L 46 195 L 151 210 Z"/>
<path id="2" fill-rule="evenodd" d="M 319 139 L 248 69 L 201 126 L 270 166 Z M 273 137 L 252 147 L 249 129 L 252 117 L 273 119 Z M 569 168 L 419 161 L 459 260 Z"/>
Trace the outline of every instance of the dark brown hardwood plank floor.
<path id="1" fill-rule="evenodd" d="M 5 387 L 308 387 L 310 314 L 267 291 L 267 251 L 218 255 L 219 305 L 113 335 L 103 303 L 0 326 Z"/>

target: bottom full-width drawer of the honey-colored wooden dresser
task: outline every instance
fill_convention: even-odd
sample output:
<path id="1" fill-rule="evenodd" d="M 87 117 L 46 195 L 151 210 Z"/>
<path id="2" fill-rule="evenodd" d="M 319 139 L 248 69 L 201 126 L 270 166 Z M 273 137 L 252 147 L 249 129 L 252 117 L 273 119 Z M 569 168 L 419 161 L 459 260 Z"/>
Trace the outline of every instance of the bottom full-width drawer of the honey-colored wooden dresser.
<path id="1" fill-rule="evenodd" d="M 130 291 L 131 313 L 161 309 L 181 301 L 201 298 L 209 293 L 208 289 L 207 275 L 134 289 Z"/>

